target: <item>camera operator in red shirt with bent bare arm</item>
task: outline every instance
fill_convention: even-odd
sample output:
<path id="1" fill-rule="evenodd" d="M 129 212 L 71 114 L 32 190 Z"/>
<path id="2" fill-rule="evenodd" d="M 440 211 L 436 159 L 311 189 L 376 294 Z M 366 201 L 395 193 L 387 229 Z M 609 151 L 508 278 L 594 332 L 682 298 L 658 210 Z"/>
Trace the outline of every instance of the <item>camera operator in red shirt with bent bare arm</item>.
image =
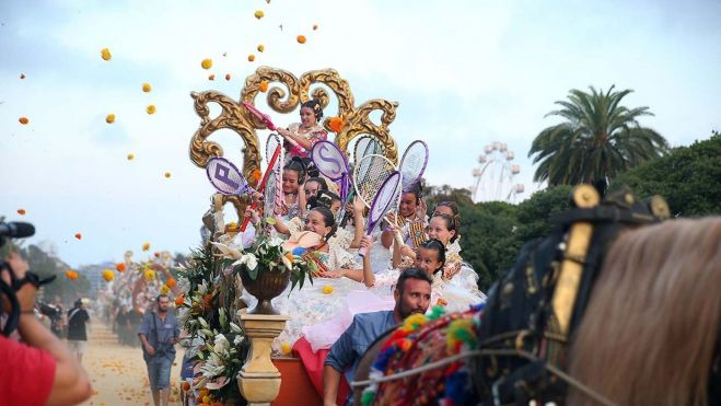
<path id="1" fill-rule="evenodd" d="M 27 263 L 16 253 L 8 256 L 8 264 L 18 280 L 27 272 Z M 10 275 L 2 271 L 2 281 L 10 285 Z M 37 288 L 24 283 L 15 292 L 21 316 L 18 325 L 24 344 L 0 335 L 0 393 L 2 399 L 23 405 L 74 405 L 92 394 L 90 379 L 58 337 L 47 329 L 33 313 Z M 5 301 L 2 313 L 7 311 Z M 4 404 L 0 401 L 0 404 Z"/>

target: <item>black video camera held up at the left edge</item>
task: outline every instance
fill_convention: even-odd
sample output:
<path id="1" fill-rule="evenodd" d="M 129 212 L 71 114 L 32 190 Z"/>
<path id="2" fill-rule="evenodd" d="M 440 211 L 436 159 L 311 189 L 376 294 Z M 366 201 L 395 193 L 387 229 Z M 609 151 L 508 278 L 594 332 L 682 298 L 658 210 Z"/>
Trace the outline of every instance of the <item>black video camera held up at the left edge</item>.
<path id="1" fill-rule="evenodd" d="M 33 224 L 25 222 L 4 222 L 4 217 L 0 217 L 0 247 L 5 244 L 8 239 L 24 239 L 34 234 L 35 227 L 33 227 Z M 36 274 L 27 271 L 23 279 L 16 279 L 10 265 L 0 258 L 0 275 L 4 272 L 9 274 L 10 285 L 0 278 L 0 297 L 7 299 L 10 306 L 8 318 L 5 320 L 5 324 L 2 326 L 0 334 L 7 337 L 15 330 L 18 322 L 20 321 L 21 309 L 15 292 L 25 283 L 32 283 L 36 288 L 39 288 L 43 285 L 51 282 L 56 277 L 54 275 L 49 278 L 40 279 Z M 0 302 L 2 302 L 2 300 L 0 300 Z"/>

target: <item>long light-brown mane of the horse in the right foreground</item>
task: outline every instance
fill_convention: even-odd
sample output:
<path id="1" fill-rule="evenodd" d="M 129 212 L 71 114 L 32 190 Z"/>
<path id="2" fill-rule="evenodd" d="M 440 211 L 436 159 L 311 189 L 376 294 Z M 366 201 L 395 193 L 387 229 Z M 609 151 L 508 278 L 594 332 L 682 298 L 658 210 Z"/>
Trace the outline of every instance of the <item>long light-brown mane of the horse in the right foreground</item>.
<path id="1" fill-rule="evenodd" d="M 569 372 L 619 405 L 707 405 L 720 330 L 721 218 L 628 230 L 605 256 Z M 595 404 L 573 386 L 567 401 Z"/>

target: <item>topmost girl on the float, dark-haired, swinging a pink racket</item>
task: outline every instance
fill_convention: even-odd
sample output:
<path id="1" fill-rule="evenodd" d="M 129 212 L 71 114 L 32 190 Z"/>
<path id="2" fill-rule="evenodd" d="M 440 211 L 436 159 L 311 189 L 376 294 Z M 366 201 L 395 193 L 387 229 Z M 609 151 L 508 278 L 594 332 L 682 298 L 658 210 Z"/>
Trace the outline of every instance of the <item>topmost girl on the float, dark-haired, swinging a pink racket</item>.
<path id="1" fill-rule="evenodd" d="M 321 127 L 323 108 L 316 100 L 310 100 L 301 105 L 301 123 L 293 123 L 288 128 L 277 128 L 286 139 L 286 162 L 293 156 L 309 158 L 313 144 L 328 138 L 328 132 Z"/>

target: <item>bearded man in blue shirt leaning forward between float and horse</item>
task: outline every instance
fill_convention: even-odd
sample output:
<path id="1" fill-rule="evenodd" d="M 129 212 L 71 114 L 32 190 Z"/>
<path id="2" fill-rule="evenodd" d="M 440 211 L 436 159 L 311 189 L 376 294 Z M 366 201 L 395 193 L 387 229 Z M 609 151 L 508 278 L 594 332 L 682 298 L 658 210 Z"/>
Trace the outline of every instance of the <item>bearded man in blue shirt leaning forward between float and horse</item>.
<path id="1" fill-rule="evenodd" d="M 396 305 L 392 311 L 361 313 L 353 317 L 353 323 L 330 348 L 323 369 L 324 405 L 335 405 L 340 385 L 340 375 L 345 373 L 348 382 L 353 381 L 358 363 L 368 347 L 383 333 L 387 332 L 411 314 L 425 314 L 431 301 L 432 280 L 422 270 L 408 268 L 398 277 L 393 292 Z M 348 396 L 347 405 L 352 404 Z"/>

